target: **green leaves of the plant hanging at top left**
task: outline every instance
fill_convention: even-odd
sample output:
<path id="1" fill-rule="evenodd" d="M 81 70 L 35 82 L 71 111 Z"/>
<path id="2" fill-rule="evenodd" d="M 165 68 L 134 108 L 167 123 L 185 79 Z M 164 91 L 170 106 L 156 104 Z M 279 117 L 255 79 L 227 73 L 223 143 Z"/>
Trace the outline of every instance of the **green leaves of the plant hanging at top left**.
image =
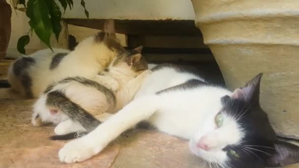
<path id="1" fill-rule="evenodd" d="M 71 10 L 73 7 L 73 0 L 59 0 L 60 5 L 65 11 L 67 7 Z M 55 34 L 58 41 L 61 31 L 61 15 L 60 5 L 56 0 L 13 0 L 12 5 L 16 10 L 26 12 L 26 15 L 30 18 L 29 25 L 30 30 L 27 34 L 19 38 L 17 49 L 20 53 L 25 54 L 25 46 L 30 42 L 30 34 L 32 31 L 38 36 L 38 38 L 46 44 L 52 50 L 50 44 L 50 37 L 52 33 Z M 81 0 L 81 5 L 85 9 L 85 14 L 89 18 L 89 12 L 85 7 L 85 1 Z"/>

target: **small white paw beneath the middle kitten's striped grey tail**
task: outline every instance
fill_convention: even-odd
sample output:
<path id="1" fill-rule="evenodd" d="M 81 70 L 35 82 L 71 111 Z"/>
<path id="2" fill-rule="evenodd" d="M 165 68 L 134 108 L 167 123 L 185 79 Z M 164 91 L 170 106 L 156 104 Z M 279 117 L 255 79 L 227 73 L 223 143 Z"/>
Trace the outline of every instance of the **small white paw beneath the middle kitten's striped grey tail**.
<path id="1" fill-rule="evenodd" d="M 71 119 L 60 122 L 54 129 L 56 135 L 64 135 L 73 132 L 86 131 L 86 129 L 78 122 Z"/>

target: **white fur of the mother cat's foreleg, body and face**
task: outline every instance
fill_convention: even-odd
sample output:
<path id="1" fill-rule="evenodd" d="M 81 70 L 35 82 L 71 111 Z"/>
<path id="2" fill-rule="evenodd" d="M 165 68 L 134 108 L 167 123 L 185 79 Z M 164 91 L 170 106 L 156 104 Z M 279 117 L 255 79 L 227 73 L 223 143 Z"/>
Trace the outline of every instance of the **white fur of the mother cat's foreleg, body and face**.
<path id="1" fill-rule="evenodd" d="M 90 134 L 66 143 L 59 151 L 60 161 L 84 161 L 102 151 L 123 131 L 147 120 L 162 132 L 190 140 L 190 150 L 195 155 L 209 162 L 225 163 L 228 157 L 222 148 L 238 143 L 243 136 L 236 121 L 229 116 L 224 116 L 223 126 L 216 128 L 215 116 L 222 109 L 220 98 L 232 92 L 220 87 L 202 86 L 155 94 L 189 79 L 202 80 L 193 74 L 179 73 L 167 67 L 152 72 L 132 102 Z M 200 140 L 208 143 L 211 149 L 204 151 L 198 148 L 196 144 Z"/>

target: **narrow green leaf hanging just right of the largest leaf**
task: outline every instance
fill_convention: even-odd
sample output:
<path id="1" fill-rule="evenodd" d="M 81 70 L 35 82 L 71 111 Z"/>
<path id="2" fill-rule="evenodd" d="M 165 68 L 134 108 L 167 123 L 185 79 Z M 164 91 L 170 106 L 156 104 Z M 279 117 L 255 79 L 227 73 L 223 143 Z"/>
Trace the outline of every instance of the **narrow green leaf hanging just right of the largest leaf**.
<path id="1" fill-rule="evenodd" d="M 48 8 L 49 8 L 49 14 L 51 16 L 51 23 L 53 26 L 53 32 L 55 33 L 56 40 L 58 42 L 59 34 L 61 31 L 61 12 L 60 8 L 57 5 L 57 3 L 54 0 L 46 0 Z"/>

